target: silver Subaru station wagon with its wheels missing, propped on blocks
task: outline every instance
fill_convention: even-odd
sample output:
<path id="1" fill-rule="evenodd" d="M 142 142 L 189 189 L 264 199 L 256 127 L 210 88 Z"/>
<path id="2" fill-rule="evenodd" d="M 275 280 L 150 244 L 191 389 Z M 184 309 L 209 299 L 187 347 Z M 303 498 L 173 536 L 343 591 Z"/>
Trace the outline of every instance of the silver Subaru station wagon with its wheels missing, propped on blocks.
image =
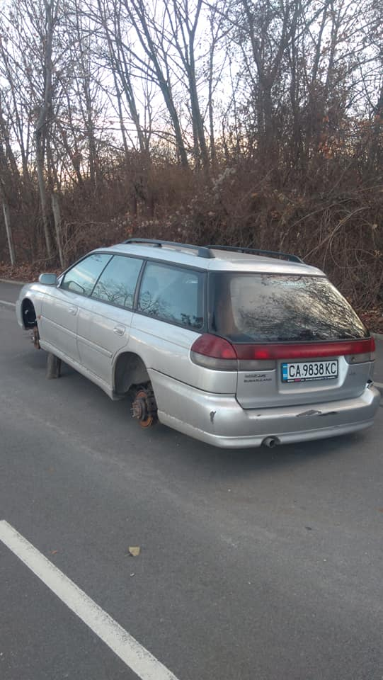
<path id="1" fill-rule="evenodd" d="M 372 425 L 375 342 L 297 256 L 129 239 L 25 285 L 18 324 L 112 399 L 215 446 Z"/>

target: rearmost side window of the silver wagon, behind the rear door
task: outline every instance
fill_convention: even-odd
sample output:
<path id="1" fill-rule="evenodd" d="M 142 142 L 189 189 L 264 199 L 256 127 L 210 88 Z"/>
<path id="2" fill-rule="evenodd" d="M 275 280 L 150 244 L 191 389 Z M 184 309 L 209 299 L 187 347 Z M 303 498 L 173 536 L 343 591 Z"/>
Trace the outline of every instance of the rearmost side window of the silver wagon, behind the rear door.
<path id="1" fill-rule="evenodd" d="M 202 272 L 148 263 L 142 277 L 138 309 L 190 328 L 203 325 Z"/>

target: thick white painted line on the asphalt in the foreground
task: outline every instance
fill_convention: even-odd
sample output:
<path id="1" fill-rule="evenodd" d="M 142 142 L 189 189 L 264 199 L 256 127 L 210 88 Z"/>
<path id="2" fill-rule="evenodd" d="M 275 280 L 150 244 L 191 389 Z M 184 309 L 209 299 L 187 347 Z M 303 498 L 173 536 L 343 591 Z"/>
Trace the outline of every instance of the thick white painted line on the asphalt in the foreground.
<path id="1" fill-rule="evenodd" d="M 96 633 L 105 645 L 142 680 L 177 680 L 156 657 L 132 638 L 117 621 L 103 611 L 83 590 L 63 574 L 47 557 L 21 536 L 11 524 L 0 521 L 0 540 L 12 551 L 64 604 Z"/>

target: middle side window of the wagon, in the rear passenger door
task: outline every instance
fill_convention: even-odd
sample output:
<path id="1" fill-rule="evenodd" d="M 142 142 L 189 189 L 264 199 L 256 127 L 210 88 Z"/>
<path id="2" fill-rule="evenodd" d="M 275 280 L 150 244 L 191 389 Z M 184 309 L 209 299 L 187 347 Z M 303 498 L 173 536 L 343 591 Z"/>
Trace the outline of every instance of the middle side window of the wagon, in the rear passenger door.
<path id="1" fill-rule="evenodd" d="M 142 260 L 115 255 L 97 281 L 92 297 L 132 309 Z"/>

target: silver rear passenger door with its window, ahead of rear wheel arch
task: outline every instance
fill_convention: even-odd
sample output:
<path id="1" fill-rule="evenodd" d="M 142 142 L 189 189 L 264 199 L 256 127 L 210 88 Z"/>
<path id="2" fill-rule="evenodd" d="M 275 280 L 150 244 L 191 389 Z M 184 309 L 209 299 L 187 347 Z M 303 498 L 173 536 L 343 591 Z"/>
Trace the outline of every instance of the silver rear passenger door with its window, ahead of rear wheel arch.
<path id="1" fill-rule="evenodd" d="M 113 360 L 128 344 L 135 289 L 142 259 L 115 255 L 79 307 L 77 344 L 81 365 L 113 383 Z"/>

